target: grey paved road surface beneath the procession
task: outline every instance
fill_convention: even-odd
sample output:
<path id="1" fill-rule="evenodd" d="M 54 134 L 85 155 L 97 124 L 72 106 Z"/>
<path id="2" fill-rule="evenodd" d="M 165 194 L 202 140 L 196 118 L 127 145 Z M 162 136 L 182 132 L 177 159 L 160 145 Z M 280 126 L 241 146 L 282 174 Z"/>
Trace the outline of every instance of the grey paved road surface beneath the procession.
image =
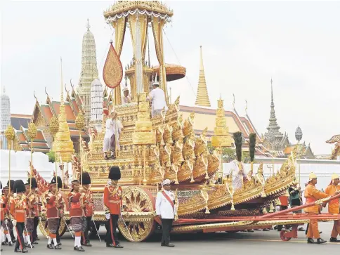
<path id="1" fill-rule="evenodd" d="M 331 223 L 320 223 L 322 237 L 329 240 L 332 230 Z M 100 228 L 100 235 L 105 235 L 105 228 Z M 42 235 L 40 235 L 42 237 Z M 289 242 L 282 242 L 279 233 L 275 230 L 268 232 L 255 231 L 254 233 L 214 233 L 214 234 L 187 234 L 173 235 L 172 241 L 176 244 L 175 248 L 161 247 L 160 237 L 154 236 L 147 242 L 133 243 L 122 241 L 124 249 L 106 248 L 104 242 L 91 240 L 93 247 L 84 247 L 85 253 L 105 255 L 105 254 L 138 254 L 138 255 L 217 255 L 217 254 L 251 254 L 251 255 L 325 255 L 339 254 L 340 243 L 327 244 L 307 244 L 303 232 L 299 232 L 299 238 Z M 39 244 L 36 244 L 33 250 L 30 249 L 28 254 L 74 254 L 73 240 L 70 233 L 66 233 L 63 238 L 63 249 L 49 250 L 46 248 L 46 239 L 41 238 Z M 13 247 L 3 247 L 1 254 L 14 254 Z M 84 253 L 84 254 L 85 254 Z M 189 254 L 190 253 L 190 254 Z"/>

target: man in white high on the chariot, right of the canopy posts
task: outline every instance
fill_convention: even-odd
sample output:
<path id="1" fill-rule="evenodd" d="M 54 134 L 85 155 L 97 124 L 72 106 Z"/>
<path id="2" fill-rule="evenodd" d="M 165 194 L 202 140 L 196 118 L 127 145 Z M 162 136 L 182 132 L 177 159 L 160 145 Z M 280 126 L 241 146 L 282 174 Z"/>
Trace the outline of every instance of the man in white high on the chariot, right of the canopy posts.
<path id="1" fill-rule="evenodd" d="M 151 116 L 152 117 L 157 117 L 157 115 L 160 115 L 163 108 L 165 110 L 168 110 L 168 107 L 166 105 L 165 101 L 165 93 L 162 89 L 159 89 L 159 82 L 157 81 L 157 74 L 155 77 L 155 81 L 152 84 L 152 91 L 150 91 L 148 97 L 146 100 L 151 102 Z"/>

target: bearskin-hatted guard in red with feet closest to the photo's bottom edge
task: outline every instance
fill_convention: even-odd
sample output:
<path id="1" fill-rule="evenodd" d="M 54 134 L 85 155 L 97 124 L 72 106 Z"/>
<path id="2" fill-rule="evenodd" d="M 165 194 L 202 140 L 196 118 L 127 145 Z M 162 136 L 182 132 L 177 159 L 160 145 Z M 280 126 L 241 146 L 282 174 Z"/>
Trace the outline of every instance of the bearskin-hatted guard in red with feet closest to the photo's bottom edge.
<path id="1" fill-rule="evenodd" d="M 15 252 L 27 253 L 27 248 L 25 247 L 25 241 L 23 237 L 23 232 L 25 230 L 25 216 L 26 216 L 26 196 L 25 196 L 25 184 L 22 180 L 16 180 L 14 183 L 13 199 L 11 199 L 11 216 L 12 223 L 15 226 L 18 242 L 15 243 Z"/>

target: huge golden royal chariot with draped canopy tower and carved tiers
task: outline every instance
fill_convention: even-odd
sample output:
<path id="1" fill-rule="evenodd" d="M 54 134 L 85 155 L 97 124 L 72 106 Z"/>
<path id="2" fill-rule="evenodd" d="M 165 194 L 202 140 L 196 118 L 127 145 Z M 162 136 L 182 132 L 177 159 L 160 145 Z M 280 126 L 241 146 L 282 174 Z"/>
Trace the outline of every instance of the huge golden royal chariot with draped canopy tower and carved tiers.
<path id="1" fill-rule="evenodd" d="M 216 128 L 212 138 L 212 145 L 216 148 L 214 152 L 210 152 L 207 146 L 207 129 L 200 136 L 195 135 L 195 114 L 183 119 L 179 112 L 179 98 L 173 104 L 168 103 L 169 109 L 162 110 L 159 116 L 150 117 L 150 103 L 146 99 L 148 84 L 155 70 L 143 61 L 145 31 L 152 27 L 159 60 L 159 84 L 166 92 L 167 74 L 174 74 L 175 71 L 171 67 L 166 68 L 163 62 L 162 29 L 172 14 L 159 1 L 117 1 L 104 13 L 107 22 L 115 28 L 115 47 L 112 44 L 110 46 L 103 78 L 107 86 L 115 88 L 114 107 L 124 126 L 119 138 L 120 150 L 117 150 L 116 159 L 103 159 L 104 124 L 107 118 L 107 114 L 103 114 L 102 131 L 91 128 L 89 143 L 84 140 L 81 143 L 80 157 L 72 155 L 75 176 L 79 176 L 81 171 L 91 175 L 95 209 L 93 220 L 97 228 L 105 222 L 103 190 L 108 181 L 110 166 L 116 165 L 122 171 L 119 184 L 123 188 L 122 217 L 126 223 L 119 219 L 118 228 L 127 240 L 141 242 L 159 229 L 160 223 L 155 221 L 155 197 L 164 179 L 171 180 L 171 188 L 176 194 L 178 215 L 174 221 L 173 233 L 235 232 L 268 228 L 276 224 L 294 224 L 293 230 L 296 230 L 297 225 L 308 222 L 306 216 L 267 214 L 266 210 L 272 210 L 277 198 L 295 184 L 296 148 L 282 164 L 280 171 L 265 180 L 262 165 L 257 174 L 252 174 L 251 169 L 242 188 L 235 190 L 231 176 L 225 176 L 216 184 L 216 179 L 221 178 L 222 173 L 221 149 L 231 146 L 223 100 L 218 100 L 216 110 Z M 123 72 L 119 56 L 127 23 L 134 47 L 133 61 L 126 69 L 131 84 L 132 103 L 122 105 L 120 81 Z M 58 116 L 58 133 L 67 134 L 67 124 L 63 117 L 65 110 L 62 107 Z M 110 110 L 106 109 L 105 112 Z M 81 122 L 81 117 L 77 119 Z M 67 141 L 67 138 L 63 141 L 63 136 L 58 133 L 55 143 L 61 149 L 56 150 L 56 153 L 64 159 L 65 154 L 72 152 L 67 149 L 72 142 L 70 139 Z M 35 169 L 33 172 L 39 178 L 39 183 L 42 183 L 39 188 L 46 190 L 47 182 L 42 180 Z M 63 192 L 67 195 L 68 191 Z M 329 216 L 327 220 L 332 220 L 332 217 Z M 66 207 L 60 235 L 65 233 L 69 223 Z M 42 233 L 48 234 L 45 216 L 41 217 L 39 227 Z M 281 233 L 282 240 L 289 240 L 294 235 L 296 231 L 289 234 L 283 230 Z"/>

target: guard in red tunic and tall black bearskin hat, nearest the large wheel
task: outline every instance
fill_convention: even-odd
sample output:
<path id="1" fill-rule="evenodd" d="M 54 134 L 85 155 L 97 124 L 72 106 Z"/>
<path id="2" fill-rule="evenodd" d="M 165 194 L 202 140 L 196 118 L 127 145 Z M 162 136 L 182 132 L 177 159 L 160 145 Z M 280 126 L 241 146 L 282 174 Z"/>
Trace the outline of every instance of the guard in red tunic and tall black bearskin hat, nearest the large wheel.
<path id="1" fill-rule="evenodd" d="M 109 179 L 110 184 L 104 188 L 104 208 L 105 216 L 108 220 L 109 228 L 106 232 L 106 247 L 123 248 L 119 245 L 116 228 L 118 225 L 119 215 L 122 215 L 122 187 L 118 185 L 121 178 L 119 166 L 111 166 Z"/>

